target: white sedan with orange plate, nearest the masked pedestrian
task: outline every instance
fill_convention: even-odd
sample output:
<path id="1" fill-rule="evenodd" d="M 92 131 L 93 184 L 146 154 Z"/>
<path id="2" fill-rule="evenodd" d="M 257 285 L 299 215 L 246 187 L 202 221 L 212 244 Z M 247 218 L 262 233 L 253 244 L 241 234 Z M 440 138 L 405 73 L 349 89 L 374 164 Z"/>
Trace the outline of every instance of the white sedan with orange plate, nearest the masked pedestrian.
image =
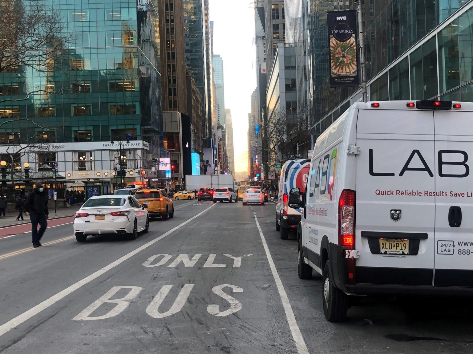
<path id="1" fill-rule="evenodd" d="M 127 234 L 136 239 L 149 230 L 148 206 L 141 206 L 131 195 L 97 195 L 90 197 L 76 212 L 74 235 L 84 242 L 87 236 Z"/>

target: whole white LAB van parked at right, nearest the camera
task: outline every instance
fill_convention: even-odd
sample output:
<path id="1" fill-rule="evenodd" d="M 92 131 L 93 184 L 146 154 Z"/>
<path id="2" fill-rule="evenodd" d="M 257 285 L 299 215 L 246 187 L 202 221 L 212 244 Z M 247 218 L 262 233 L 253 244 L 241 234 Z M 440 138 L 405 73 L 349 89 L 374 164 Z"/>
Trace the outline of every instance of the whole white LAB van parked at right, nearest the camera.
<path id="1" fill-rule="evenodd" d="M 298 275 L 323 276 L 327 320 L 346 317 L 349 295 L 473 295 L 472 155 L 466 102 L 355 103 L 320 135 Z"/>

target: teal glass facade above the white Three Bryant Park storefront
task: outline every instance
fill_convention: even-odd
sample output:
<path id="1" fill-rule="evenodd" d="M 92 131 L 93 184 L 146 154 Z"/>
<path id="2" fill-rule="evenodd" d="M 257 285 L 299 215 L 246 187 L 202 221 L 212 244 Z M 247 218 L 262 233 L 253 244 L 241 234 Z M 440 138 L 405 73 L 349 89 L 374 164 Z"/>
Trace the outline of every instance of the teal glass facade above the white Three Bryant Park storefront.
<path id="1" fill-rule="evenodd" d="M 70 36 L 68 47 L 48 60 L 46 70 L 18 67 L 0 73 L 4 99 L 37 90 L 56 92 L 0 104 L 1 117 L 31 118 L 44 129 L 16 122 L 1 131 L 18 133 L 21 142 L 39 133 L 48 135 L 49 143 L 110 141 L 112 135 L 131 134 L 133 140 L 162 146 L 160 41 L 153 1 L 47 2 L 59 11 Z"/>

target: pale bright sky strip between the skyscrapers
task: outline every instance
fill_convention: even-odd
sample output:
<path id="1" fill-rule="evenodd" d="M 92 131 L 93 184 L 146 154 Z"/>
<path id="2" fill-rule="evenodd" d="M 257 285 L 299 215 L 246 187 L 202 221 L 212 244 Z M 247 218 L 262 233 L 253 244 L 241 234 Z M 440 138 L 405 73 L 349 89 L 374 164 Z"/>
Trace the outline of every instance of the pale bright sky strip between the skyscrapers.
<path id="1" fill-rule="evenodd" d="M 213 52 L 223 59 L 225 108 L 232 111 L 235 169 L 246 172 L 248 113 L 256 88 L 253 1 L 210 0 L 210 20 L 214 21 Z"/>

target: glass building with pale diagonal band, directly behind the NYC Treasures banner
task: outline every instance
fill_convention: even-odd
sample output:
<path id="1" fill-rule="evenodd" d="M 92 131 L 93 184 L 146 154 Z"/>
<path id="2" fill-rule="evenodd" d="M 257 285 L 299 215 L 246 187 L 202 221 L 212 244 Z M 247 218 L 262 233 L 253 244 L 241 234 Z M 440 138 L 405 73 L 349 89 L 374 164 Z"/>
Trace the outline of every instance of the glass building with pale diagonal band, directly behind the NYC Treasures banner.
<path id="1" fill-rule="evenodd" d="M 312 134 L 350 104 L 358 87 L 330 88 L 326 11 L 349 1 L 306 0 Z M 368 100 L 473 101 L 473 1 L 365 0 Z"/>

